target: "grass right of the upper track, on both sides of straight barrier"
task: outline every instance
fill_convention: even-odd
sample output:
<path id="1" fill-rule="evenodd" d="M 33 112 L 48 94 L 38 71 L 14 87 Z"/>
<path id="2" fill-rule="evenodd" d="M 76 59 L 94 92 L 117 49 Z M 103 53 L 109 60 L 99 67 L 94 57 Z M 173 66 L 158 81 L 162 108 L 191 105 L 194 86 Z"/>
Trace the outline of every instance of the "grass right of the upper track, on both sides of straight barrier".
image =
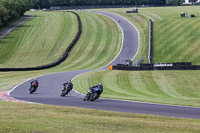
<path id="1" fill-rule="evenodd" d="M 137 57 L 147 62 L 148 20 L 154 22 L 154 62 L 192 62 L 200 65 L 199 7 L 139 8 L 139 13 L 125 13 L 132 9 L 105 9 L 126 17 L 140 33 Z M 181 18 L 180 13 L 195 14 L 195 18 Z"/>

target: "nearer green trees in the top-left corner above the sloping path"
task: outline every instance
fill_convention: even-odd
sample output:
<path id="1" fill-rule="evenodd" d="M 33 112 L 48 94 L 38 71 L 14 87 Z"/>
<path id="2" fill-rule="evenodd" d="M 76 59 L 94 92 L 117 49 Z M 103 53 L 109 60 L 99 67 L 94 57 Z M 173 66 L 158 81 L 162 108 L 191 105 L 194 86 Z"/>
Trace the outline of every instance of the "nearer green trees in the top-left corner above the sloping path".
<path id="1" fill-rule="evenodd" d="M 31 7 L 32 0 L 0 0 L 0 26 L 24 15 Z"/>

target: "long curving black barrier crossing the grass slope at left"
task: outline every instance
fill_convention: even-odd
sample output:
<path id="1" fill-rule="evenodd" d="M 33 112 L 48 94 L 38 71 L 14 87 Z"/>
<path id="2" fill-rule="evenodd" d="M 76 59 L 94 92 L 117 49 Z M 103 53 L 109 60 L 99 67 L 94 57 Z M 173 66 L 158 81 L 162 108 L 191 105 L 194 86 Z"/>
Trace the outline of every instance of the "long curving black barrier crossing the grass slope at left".
<path id="1" fill-rule="evenodd" d="M 78 25 L 79 25 L 79 27 L 78 27 L 78 33 L 77 33 L 76 37 L 74 38 L 74 40 L 69 45 L 69 47 L 66 49 L 66 51 L 64 52 L 64 54 L 58 60 L 56 60 L 53 63 L 47 64 L 47 65 L 38 66 L 38 67 L 29 67 L 29 68 L 0 68 L 0 71 L 33 71 L 33 70 L 43 70 L 43 69 L 52 68 L 52 67 L 55 67 L 55 66 L 61 64 L 68 57 L 68 54 L 70 53 L 71 49 L 75 46 L 76 42 L 78 41 L 78 39 L 80 38 L 80 36 L 82 34 L 82 22 L 81 22 L 80 17 L 75 12 L 72 12 L 72 11 L 68 11 L 68 12 L 71 12 L 71 13 L 75 14 L 76 17 L 77 17 Z"/>

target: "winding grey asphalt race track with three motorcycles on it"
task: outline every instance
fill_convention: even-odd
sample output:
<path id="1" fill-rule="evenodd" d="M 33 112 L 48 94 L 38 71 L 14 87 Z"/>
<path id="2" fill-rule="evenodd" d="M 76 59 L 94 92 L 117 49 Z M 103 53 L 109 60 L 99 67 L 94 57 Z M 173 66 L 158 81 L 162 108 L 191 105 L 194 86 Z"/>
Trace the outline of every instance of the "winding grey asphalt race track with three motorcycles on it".
<path id="1" fill-rule="evenodd" d="M 110 64 L 120 63 L 121 58 L 132 59 L 136 55 L 139 48 L 139 37 L 138 32 L 132 24 L 126 19 L 118 15 L 114 15 L 106 12 L 98 12 L 104 14 L 120 25 L 124 33 L 122 49 L 115 60 Z M 120 20 L 120 23 L 119 23 Z M 110 65 L 108 64 L 108 65 Z M 108 65 L 101 68 L 107 69 Z M 98 70 L 101 70 L 98 69 Z M 162 104 L 151 104 L 141 102 L 131 102 L 123 100 L 112 100 L 100 98 L 94 102 L 83 101 L 84 95 L 71 91 L 66 97 L 61 97 L 62 84 L 69 79 L 73 79 L 79 74 L 95 71 L 95 70 L 79 70 L 79 71 L 68 71 L 61 73 L 54 73 L 38 77 L 39 87 L 37 92 L 29 94 L 30 81 L 26 81 L 17 85 L 9 93 L 11 97 L 28 102 L 49 104 L 49 105 L 60 105 L 60 106 L 72 106 L 82 107 L 90 109 L 100 109 L 117 112 L 127 113 L 140 113 L 140 114 L 153 114 L 161 116 L 179 117 L 179 118 L 193 118 L 200 119 L 200 108 L 195 107 L 184 107 L 184 106 L 170 106 Z"/>

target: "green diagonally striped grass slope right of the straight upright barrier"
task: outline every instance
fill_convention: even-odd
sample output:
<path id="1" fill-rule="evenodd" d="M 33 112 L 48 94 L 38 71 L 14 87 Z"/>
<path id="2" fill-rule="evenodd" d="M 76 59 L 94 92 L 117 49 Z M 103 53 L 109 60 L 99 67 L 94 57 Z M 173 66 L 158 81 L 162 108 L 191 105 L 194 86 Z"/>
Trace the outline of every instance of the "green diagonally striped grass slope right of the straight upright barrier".
<path id="1" fill-rule="evenodd" d="M 199 7 L 146 10 L 161 19 L 154 22 L 154 62 L 192 62 L 200 65 Z M 195 18 L 181 18 L 188 11 Z"/>

